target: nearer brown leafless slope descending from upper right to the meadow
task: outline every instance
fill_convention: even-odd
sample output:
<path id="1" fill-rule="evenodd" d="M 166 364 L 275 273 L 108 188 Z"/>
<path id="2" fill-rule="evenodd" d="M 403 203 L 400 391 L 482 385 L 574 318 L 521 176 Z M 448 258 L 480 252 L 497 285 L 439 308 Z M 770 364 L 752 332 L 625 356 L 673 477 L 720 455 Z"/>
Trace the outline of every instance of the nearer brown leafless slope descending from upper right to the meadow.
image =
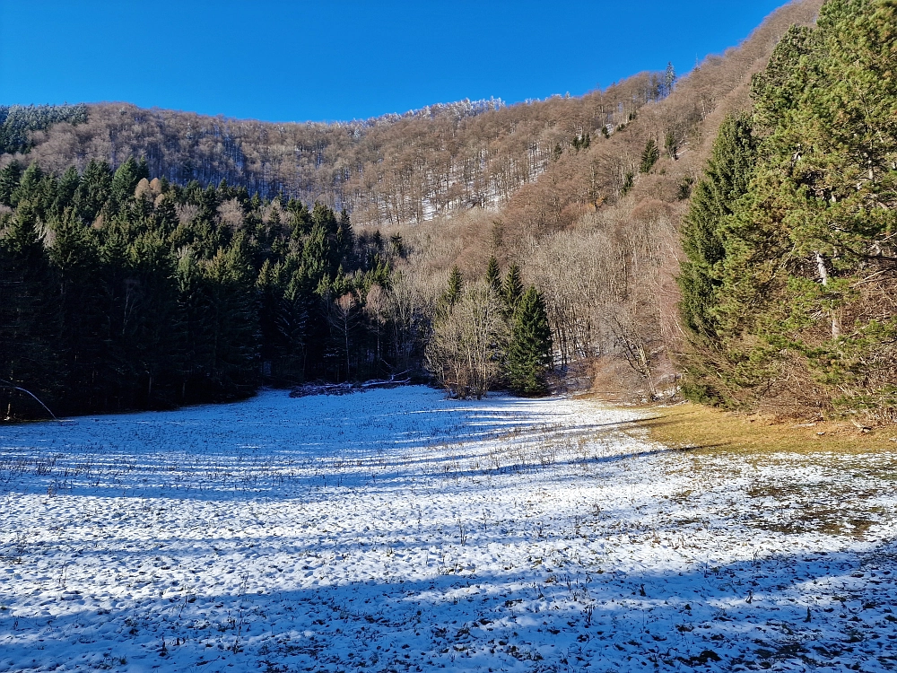
<path id="1" fill-rule="evenodd" d="M 439 277 L 455 260 L 482 275 L 492 254 L 517 262 L 543 293 L 561 371 L 625 396 L 674 390 L 682 363 L 671 354 L 684 335 L 675 277 L 692 188 L 720 124 L 750 109 L 753 75 L 790 26 L 814 24 L 821 4 L 782 7 L 609 137 L 560 153 L 507 205 L 403 230 L 415 273 Z"/>

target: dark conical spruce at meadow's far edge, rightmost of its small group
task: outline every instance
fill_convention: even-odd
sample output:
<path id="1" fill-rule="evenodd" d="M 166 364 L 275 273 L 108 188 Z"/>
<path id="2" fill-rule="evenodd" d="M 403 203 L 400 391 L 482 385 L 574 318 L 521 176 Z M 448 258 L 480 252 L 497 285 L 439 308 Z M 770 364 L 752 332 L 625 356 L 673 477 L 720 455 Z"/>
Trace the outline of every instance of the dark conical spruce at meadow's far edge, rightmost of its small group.
<path id="1" fill-rule="evenodd" d="M 521 297 L 511 329 L 506 372 L 510 389 L 525 396 L 544 395 L 552 366 L 552 331 L 542 295 L 532 285 Z"/>

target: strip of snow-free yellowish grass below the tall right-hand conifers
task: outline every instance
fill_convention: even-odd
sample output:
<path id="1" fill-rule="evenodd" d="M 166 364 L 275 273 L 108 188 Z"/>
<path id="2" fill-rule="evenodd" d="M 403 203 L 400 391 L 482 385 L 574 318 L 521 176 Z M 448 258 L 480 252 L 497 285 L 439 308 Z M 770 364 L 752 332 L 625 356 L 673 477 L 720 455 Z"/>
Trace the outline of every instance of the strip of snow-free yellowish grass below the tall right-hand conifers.
<path id="1" fill-rule="evenodd" d="M 893 427 L 862 432 L 849 422 L 782 423 L 692 403 L 645 408 L 651 414 L 638 426 L 653 441 L 675 448 L 798 453 L 897 450 L 897 428 Z"/>

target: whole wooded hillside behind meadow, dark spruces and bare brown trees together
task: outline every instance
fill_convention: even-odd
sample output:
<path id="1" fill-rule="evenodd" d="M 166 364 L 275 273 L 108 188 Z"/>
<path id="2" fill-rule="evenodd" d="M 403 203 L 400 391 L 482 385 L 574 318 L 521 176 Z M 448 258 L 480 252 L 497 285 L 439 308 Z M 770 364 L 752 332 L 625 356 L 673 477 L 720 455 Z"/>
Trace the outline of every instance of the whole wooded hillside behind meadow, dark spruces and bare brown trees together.
<path id="1" fill-rule="evenodd" d="M 663 394 L 692 188 L 819 4 L 582 98 L 333 125 L 4 109 L 30 120 L 0 157 L 6 385 L 72 411 L 409 370 L 462 396 L 549 370 Z"/>

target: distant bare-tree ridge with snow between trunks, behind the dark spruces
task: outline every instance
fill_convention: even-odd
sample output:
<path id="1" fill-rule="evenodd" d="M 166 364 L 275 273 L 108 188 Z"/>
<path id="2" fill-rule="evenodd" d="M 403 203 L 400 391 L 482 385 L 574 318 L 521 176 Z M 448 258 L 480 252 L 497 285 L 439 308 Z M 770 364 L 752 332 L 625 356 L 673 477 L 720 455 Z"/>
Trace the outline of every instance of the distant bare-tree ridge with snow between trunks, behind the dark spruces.
<path id="1" fill-rule="evenodd" d="M 359 224 L 420 223 L 500 205 L 557 153 L 629 120 L 669 91 L 641 74 L 605 92 L 504 107 L 435 105 L 337 124 L 271 124 L 128 104 L 86 106 L 86 120 L 34 135 L 26 161 L 61 172 L 91 159 L 145 158 L 154 176 L 218 184 L 346 209 Z"/>

